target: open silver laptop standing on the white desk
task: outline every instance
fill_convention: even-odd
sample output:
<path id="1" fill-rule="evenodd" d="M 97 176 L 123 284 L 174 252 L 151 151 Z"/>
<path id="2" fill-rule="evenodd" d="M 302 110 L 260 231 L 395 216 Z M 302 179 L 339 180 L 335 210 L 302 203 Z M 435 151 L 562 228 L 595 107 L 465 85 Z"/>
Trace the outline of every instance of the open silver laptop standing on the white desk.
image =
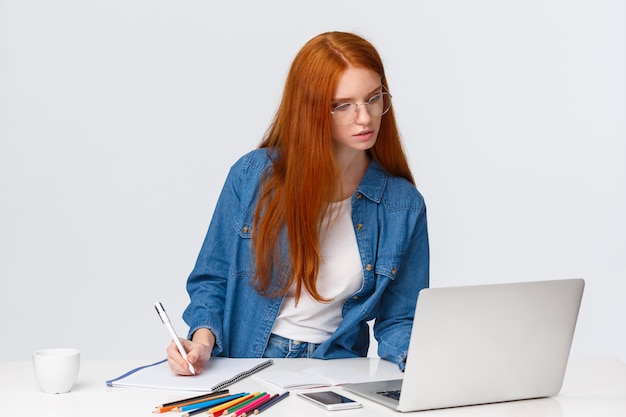
<path id="1" fill-rule="evenodd" d="M 424 289 L 404 378 L 342 387 L 397 411 L 554 396 L 584 285 L 568 279 Z"/>

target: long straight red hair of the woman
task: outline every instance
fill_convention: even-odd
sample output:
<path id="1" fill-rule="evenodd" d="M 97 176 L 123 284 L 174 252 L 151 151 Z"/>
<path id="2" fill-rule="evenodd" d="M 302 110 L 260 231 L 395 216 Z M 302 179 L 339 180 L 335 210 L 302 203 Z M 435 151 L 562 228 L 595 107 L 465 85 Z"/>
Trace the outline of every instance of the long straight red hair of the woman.
<path id="1" fill-rule="evenodd" d="M 330 111 L 335 87 L 348 66 L 374 71 L 388 90 L 382 60 L 370 42 L 344 32 L 318 35 L 295 57 L 274 121 L 259 146 L 271 148 L 272 157 L 253 223 L 253 284 L 262 294 L 280 296 L 295 285 L 296 300 L 304 287 L 315 300 L 327 301 L 315 285 L 321 258 L 319 230 L 329 203 L 340 191 Z M 376 144 L 368 152 L 389 175 L 414 183 L 393 106 L 383 116 Z"/>

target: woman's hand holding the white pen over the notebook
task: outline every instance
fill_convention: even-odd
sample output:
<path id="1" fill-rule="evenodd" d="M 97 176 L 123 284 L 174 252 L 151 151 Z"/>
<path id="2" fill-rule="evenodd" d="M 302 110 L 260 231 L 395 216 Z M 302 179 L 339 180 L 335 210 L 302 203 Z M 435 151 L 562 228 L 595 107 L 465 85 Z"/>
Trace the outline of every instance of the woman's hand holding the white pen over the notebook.
<path id="1" fill-rule="evenodd" d="M 180 342 L 187 352 L 187 361 L 194 367 L 196 374 L 202 372 L 204 363 L 211 357 L 215 336 L 209 329 L 198 329 L 192 340 L 180 338 Z M 191 375 L 187 361 L 181 356 L 176 344 L 172 343 L 167 347 L 167 363 L 172 371 L 179 375 Z"/>

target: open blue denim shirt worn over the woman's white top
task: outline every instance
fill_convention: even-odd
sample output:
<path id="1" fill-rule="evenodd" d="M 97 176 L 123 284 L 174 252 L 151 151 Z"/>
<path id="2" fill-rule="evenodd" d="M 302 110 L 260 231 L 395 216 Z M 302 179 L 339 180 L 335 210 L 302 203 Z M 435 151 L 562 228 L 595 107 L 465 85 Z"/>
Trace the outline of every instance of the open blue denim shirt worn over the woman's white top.
<path id="1" fill-rule="evenodd" d="M 254 150 L 232 166 L 187 281 L 189 337 L 211 329 L 213 356 L 261 357 L 283 300 L 250 285 L 252 221 L 260 182 L 271 167 L 267 152 Z M 404 369 L 417 297 L 429 284 L 424 199 L 410 182 L 372 161 L 352 196 L 352 221 L 363 286 L 345 302 L 341 324 L 313 357 L 366 356 L 366 322 L 375 319 L 378 355 Z"/>

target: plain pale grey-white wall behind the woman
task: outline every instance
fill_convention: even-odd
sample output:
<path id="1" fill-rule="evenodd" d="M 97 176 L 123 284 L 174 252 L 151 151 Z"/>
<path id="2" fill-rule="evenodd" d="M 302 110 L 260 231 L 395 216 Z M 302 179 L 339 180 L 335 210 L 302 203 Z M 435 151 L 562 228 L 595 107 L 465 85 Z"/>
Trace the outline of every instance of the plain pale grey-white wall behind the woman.
<path id="1" fill-rule="evenodd" d="M 0 0 L 0 359 L 160 359 L 230 165 L 311 37 L 386 64 L 432 286 L 583 277 L 626 360 L 626 5 Z M 294 110 L 295 111 L 295 110 Z"/>

